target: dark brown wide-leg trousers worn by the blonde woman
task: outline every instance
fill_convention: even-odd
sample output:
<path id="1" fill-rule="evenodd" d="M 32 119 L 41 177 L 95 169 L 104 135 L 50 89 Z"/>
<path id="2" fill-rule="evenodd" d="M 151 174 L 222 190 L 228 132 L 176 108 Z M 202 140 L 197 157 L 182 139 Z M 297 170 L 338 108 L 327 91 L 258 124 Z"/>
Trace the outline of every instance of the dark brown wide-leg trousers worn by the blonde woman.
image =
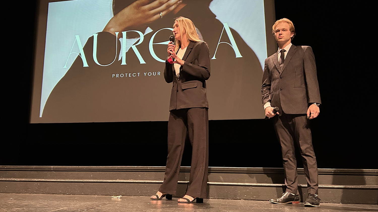
<path id="1" fill-rule="evenodd" d="M 176 194 L 186 135 L 192 144 L 192 164 L 186 194 L 206 198 L 209 163 L 209 117 L 207 108 L 172 110 L 168 120 L 168 157 L 159 191 Z"/>

